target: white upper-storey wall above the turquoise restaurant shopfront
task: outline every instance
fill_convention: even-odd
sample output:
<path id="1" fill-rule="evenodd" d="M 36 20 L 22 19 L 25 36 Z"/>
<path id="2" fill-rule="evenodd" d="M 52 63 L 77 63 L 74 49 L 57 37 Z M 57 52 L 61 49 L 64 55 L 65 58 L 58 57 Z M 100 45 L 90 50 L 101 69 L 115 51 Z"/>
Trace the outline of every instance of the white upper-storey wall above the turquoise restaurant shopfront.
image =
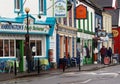
<path id="1" fill-rule="evenodd" d="M 30 12 L 29 14 L 33 15 L 37 20 L 46 20 L 46 15 L 41 15 L 41 19 L 38 18 L 38 14 L 39 14 L 39 0 L 21 0 L 25 1 L 25 4 L 23 5 L 23 12 L 25 13 L 25 8 L 29 7 L 30 8 Z M 46 0 L 46 11 L 47 12 L 47 17 L 51 17 L 53 16 L 53 0 Z M 7 4 L 9 3 L 9 5 Z M 9 18 L 14 18 L 16 16 L 18 16 L 17 13 L 14 12 L 14 0 L 1 0 L 0 1 L 0 10 L 4 10 L 0 13 L 0 17 L 9 17 Z"/>

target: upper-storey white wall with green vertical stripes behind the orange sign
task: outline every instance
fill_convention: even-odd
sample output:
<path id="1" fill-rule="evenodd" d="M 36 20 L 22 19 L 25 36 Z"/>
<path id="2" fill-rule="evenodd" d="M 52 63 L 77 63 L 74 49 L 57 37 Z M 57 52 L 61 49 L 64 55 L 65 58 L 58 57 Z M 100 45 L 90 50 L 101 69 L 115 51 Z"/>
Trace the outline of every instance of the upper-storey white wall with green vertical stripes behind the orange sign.
<path id="1" fill-rule="evenodd" d="M 95 10 L 81 2 L 76 4 L 76 7 L 79 6 L 80 4 L 83 4 L 84 6 L 87 7 L 87 19 L 80 19 L 80 22 L 78 22 L 79 20 L 76 20 L 76 27 L 79 28 L 79 23 L 81 23 L 80 29 L 90 31 L 90 32 L 95 32 L 95 29 L 94 29 L 95 28 L 95 25 L 94 25 Z"/>

